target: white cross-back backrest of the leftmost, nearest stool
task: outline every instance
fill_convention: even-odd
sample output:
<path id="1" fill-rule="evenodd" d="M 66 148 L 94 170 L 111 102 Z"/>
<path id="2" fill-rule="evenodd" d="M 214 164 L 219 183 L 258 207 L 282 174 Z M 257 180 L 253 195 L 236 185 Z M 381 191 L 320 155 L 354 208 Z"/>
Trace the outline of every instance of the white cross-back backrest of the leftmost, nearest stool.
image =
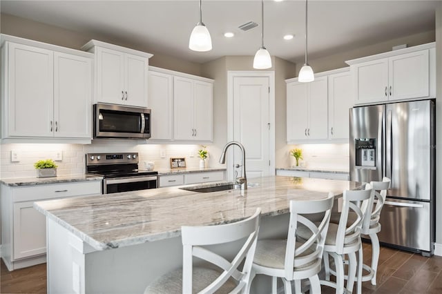
<path id="1" fill-rule="evenodd" d="M 231 293 L 245 291 L 249 282 L 251 266 L 256 250 L 261 210 L 258 208 L 251 217 L 232 224 L 218 226 L 182 226 L 183 265 L 182 293 L 192 293 L 193 257 L 198 257 L 222 269 L 220 276 L 200 293 L 215 293 L 230 277 L 236 280 L 237 286 Z M 202 246 L 228 244 L 244 240 L 240 251 L 232 261 Z M 240 265 L 244 261 L 242 270 Z"/>

